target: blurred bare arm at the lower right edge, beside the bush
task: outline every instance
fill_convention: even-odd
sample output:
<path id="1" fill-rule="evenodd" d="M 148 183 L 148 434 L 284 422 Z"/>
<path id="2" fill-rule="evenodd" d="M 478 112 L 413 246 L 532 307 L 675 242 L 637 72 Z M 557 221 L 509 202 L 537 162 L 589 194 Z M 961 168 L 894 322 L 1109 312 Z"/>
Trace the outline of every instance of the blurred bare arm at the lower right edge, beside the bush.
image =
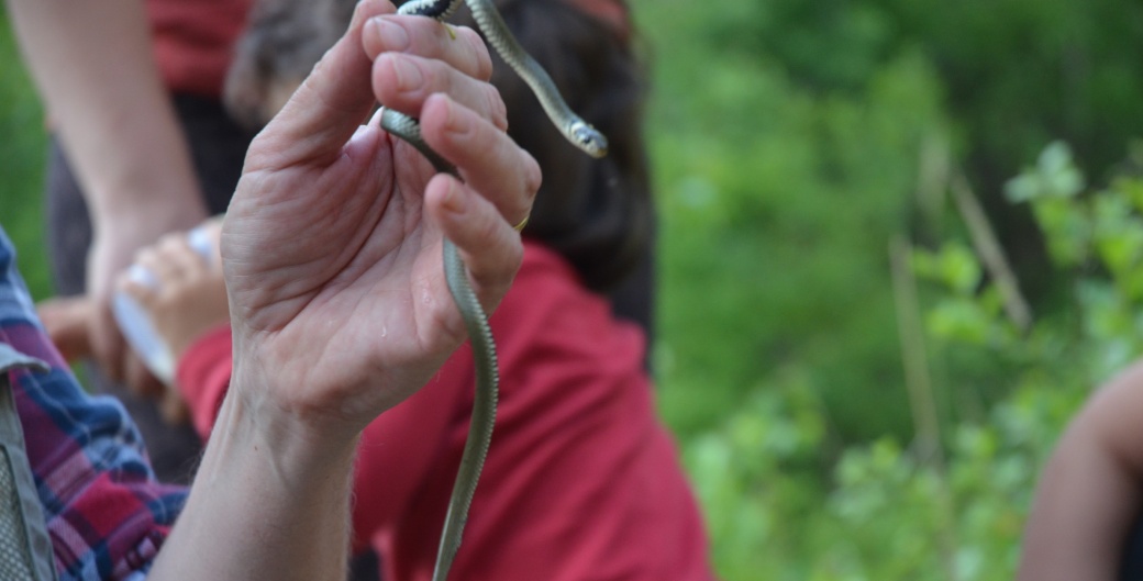
<path id="1" fill-rule="evenodd" d="M 1116 579 L 1143 499 L 1143 364 L 1100 389 L 1072 420 L 1037 487 L 1022 581 Z"/>

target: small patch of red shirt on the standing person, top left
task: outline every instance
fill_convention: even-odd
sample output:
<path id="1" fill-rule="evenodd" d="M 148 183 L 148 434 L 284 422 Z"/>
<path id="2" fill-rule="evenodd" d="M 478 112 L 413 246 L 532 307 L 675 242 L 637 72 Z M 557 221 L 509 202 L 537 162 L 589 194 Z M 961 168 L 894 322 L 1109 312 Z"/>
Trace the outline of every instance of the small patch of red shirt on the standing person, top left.
<path id="1" fill-rule="evenodd" d="M 254 0 L 146 0 L 154 58 L 171 92 L 222 95 Z"/>

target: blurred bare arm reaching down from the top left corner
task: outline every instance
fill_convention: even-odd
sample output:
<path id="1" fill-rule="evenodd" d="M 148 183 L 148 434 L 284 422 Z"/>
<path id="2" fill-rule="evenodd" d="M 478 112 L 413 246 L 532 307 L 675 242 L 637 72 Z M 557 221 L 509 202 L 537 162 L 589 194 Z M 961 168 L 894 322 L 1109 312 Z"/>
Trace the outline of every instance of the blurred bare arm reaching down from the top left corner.
<path id="1" fill-rule="evenodd" d="M 121 377 L 126 352 L 107 307 L 112 281 L 136 249 L 206 218 L 190 153 L 153 60 L 142 0 L 7 6 L 86 193 L 95 236 L 87 290 L 103 305 L 93 348 Z"/>

